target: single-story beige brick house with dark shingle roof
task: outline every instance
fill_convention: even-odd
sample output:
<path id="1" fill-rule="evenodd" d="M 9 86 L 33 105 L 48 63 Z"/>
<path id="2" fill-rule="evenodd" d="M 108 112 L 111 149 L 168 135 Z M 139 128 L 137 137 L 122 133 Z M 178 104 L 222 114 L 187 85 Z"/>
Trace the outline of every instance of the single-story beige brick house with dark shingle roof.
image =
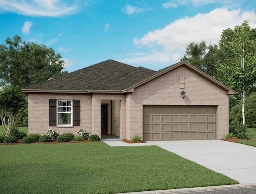
<path id="1" fill-rule="evenodd" d="M 22 91 L 28 133 L 86 129 L 100 137 L 142 135 L 144 141 L 223 138 L 228 95 L 236 93 L 185 61 L 153 71 L 114 60 Z"/>

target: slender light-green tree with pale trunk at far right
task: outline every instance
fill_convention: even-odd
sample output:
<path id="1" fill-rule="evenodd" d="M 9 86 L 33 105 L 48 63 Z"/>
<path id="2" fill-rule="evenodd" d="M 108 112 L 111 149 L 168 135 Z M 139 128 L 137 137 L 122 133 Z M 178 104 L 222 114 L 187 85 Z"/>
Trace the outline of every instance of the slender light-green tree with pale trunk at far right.
<path id="1" fill-rule="evenodd" d="M 256 30 L 248 21 L 234 30 L 228 28 L 222 32 L 220 48 L 227 51 L 227 60 L 216 65 L 218 79 L 241 96 L 245 124 L 245 99 L 256 83 Z"/>

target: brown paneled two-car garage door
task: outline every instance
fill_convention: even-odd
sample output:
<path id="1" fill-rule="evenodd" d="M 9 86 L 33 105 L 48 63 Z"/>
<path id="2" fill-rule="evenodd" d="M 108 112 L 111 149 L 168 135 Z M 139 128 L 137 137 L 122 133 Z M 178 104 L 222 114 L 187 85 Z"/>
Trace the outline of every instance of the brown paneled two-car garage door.
<path id="1" fill-rule="evenodd" d="M 143 105 L 143 140 L 216 139 L 216 106 Z"/>

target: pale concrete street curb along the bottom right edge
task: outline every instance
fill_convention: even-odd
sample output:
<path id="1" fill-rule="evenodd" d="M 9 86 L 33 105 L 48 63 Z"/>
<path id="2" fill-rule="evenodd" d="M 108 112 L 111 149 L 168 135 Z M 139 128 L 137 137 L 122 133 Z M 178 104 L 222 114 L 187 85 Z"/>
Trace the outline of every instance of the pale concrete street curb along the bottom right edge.
<path id="1" fill-rule="evenodd" d="M 182 194 L 182 193 L 229 190 L 229 189 L 252 188 L 252 187 L 256 187 L 256 183 L 180 188 L 180 189 L 168 189 L 168 190 L 154 190 L 154 191 L 140 191 L 140 192 L 130 192 L 130 193 L 121 193 L 121 194 Z"/>

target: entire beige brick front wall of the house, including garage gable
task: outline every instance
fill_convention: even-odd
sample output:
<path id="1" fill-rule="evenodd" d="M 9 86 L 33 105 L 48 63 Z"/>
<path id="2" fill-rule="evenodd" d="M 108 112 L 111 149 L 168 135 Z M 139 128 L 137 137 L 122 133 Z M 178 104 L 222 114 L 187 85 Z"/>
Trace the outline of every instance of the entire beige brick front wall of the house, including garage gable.
<path id="1" fill-rule="evenodd" d="M 180 74 L 184 75 L 182 89 Z M 180 94 L 182 90 L 186 92 L 184 99 Z M 80 126 L 49 127 L 49 99 L 79 99 Z M 48 129 L 55 129 L 60 133 L 76 134 L 82 128 L 100 136 L 100 104 L 104 100 L 121 100 L 121 139 L 130 139 L 137 134 L 142 135 L 143 105 L 215 105 L 217 106 L 218 139 L 228 133 L 228 95 L 184 67 L 178 67 L 161 75 L 128 94 L 30 93 L 28 95 L 28 132 L 45 135 Z"/>

